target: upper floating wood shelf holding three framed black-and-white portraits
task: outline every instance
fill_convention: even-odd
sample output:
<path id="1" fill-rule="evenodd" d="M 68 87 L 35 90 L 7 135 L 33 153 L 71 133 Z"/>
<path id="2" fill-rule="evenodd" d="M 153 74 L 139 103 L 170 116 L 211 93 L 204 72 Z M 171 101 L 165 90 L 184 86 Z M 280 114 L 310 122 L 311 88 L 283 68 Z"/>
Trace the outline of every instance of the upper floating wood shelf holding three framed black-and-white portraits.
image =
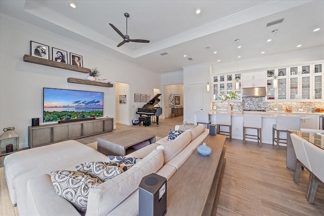
<path id="1" fill-rule="evenodd" d="M 85 67 L 78 67 L 75 65 L 69 65 L 61 62 L 56 62 L 48 59 L 42 59 L 34 56 L 24 55 L 24 62 L 30 62 L 34 64 L 46 65 L 50 67 L 57 67 L 66 70 L 73 70 L 81 73 L 89 73 L 90 69 Z"/>

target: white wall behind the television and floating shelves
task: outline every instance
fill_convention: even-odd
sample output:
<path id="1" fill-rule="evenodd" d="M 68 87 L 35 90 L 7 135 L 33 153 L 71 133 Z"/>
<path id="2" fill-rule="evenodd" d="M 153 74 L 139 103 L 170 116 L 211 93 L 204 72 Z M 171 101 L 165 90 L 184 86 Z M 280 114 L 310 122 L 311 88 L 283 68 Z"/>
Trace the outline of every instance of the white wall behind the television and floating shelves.
<path id="1" fill-rule="evenodd" d="M 114 88 L 68 83 L 68 77 L 85 79 L 87 74 L 23 62 L 23 55 L 30 55 L 30 40 L 50 46 L 50 59 L 52 47 L 83 56 L 84 67 L 97 67 L 100 78 Z M 43 120 L 43 87 L 104 92 L 104 116 L 115 118 L 115 82 L 129 83 L 130 123 L 145 104 L 135 103 L 134 94 L 153 95 L 153 89 L 160 88 L 158 74 L 5 16 L 0 19 L 0 47 L 0 128 L 14 126 L 21 147 L 27 147 L 31 118 Z"/>

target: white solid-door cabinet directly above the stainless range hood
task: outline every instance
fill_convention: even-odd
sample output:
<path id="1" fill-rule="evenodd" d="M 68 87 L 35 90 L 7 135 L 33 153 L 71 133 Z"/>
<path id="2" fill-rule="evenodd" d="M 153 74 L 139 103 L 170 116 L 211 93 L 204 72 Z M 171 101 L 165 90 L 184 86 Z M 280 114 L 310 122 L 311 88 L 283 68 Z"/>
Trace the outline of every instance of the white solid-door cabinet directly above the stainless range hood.
<path id="1" fill-rule="evenodd" d="M 265 69 L 242 72 L 242 88 L 265 87 Z"/>

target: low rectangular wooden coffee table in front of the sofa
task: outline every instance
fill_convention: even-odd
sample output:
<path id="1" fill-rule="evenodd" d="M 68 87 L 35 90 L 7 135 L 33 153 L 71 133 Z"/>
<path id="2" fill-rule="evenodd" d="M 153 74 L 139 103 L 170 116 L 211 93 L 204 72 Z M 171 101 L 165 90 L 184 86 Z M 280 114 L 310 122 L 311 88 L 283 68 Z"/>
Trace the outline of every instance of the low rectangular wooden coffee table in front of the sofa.
<path id="1" fill-rule="evenodd" d="M 133 130 L 123 131 L 97 138 L 97 150 L 104 155 L 125 156 L 127 148 L 146 140 L 155 143 L 155 135 Z"/>

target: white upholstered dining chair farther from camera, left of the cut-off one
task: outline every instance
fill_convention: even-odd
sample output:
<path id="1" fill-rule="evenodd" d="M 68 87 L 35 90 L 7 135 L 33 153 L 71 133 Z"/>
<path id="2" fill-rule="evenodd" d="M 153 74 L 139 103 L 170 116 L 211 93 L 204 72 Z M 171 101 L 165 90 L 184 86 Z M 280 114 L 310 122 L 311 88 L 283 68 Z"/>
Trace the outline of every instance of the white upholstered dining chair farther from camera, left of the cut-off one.
<path id="1" fill-rule="evenodd" d="M 312 168 L 309 163 L 309 159 L 308 159 L 306 149 L 305 149 L 305 146 L 303 143 L 305 140 L 303 138 L 297 136 L 296 134 L 290 134 L 290 137 L 292 139 L 292 143 L 293 143 L 294 150 L 296 153 L 296 158 L 297 158 L 294 182 L 297 183 L 301 166 L 304 166 L 309 171 L 309 174 L 310 174 L 309 181 L 308 181 L 307 195 L 306 195 L 306 198 L 308 198 L 309 192 L 310 192 L 310 187 L 311 187 L 311 180 L 313 178 L 313 173 L 312 173 Z"/>

